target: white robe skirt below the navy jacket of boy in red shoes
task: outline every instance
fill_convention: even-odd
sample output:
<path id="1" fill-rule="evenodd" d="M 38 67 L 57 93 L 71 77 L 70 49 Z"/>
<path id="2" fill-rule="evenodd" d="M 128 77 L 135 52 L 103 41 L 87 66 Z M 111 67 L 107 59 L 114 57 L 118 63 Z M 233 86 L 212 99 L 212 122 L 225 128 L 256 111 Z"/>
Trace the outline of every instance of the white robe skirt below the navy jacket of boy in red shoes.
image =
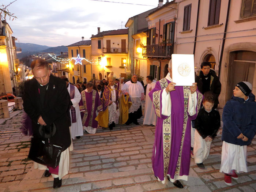
<path id="1" fill-rule="evenodd" d="M 239 146 L 223 141 L 221 151 L 221 168 L 219 172 L 230 173 L 231 170 L 247 173 L 246 165 L 247 146 Z"/>

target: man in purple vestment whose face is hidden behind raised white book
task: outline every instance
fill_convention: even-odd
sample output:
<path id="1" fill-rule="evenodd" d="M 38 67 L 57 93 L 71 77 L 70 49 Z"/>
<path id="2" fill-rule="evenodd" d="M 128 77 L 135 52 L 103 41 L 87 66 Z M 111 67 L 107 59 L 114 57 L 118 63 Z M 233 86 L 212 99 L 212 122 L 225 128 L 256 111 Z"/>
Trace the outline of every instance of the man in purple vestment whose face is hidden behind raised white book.
<path id="1" fill-rule="evenodd" d="M 159 80 L 149 96 L 158 116 L 155 128 L 152 168 L 159 181 L 169 180 L 178 188 L 188 180 L 191 144 L 191 120 L 199 112 L 203 95 L 192 86 L 175 86 L 169 73 Z"/>

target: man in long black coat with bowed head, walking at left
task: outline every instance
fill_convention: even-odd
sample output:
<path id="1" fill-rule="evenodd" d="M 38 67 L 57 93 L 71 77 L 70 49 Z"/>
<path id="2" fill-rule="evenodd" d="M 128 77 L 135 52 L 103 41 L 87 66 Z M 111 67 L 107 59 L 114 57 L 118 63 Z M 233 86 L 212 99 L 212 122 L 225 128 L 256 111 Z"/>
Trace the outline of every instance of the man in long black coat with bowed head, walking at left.
<path id="1" fill-rule="evenodd" d="M 33 139 L 40 141 L 39 143 L 41 141 L 42 143 L 49 142 L 50 144 L 62 147 L 60 161 L 57 162 L 57 165 L 62 166 L 57 166 L 56 168 L 45 167 L 45 176 L 49 177 L 52 174 L 54 177 L 53 188 L 58 188 L 61 187 L 63 173 L 67 174 L 69 169 L 68 147 L 71 144 L 69 132 L 69 93 L 66 83 L 60 78 L 51 75 L 50 66 L 46 61 L 41 59 L 35 60 L 31 63 L 31 68 L 34 78 L 25 82 L 23 107 L 32 120 Z M 39 131 L 39 127 L 40 125 L 49 127 L 49 125 L 53 124 L 56 126 L 56 132 L 52 137 L 46 139 L 45 135 Z M 40 150 L 37 143 L 31 142 L 31 148 L 32 146 L 38 147 L 38 150 Z M 42 167 L 42 165 L 39 167 Z"/>

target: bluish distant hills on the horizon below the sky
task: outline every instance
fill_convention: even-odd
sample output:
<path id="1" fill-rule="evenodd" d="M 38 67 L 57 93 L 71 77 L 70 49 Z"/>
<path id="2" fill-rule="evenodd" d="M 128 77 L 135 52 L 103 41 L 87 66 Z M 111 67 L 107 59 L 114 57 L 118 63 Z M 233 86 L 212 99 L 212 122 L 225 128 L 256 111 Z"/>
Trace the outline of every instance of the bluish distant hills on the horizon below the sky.
<path id="1" fill-rule="evenodd" d="M 18 59 L 25 56 L 30 56 L 40 52 L 53 52 L 55 54 L 60 54 L 60 52 L 67 52 L 68 48 L 64 45 L 57 47 L 49 47 L 45 45 L 37 45 L 31 43 L 17 43 L 17 47 L 20 47 L 22 52 L 17 54 Z"/>

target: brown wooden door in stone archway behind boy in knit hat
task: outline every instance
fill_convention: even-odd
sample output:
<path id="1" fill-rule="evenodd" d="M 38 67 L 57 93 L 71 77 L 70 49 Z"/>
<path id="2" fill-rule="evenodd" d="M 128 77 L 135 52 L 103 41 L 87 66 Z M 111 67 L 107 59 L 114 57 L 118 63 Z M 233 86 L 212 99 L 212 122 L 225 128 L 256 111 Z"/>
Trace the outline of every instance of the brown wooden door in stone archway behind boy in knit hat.
<path id="1" fill-rule="evenodd" d="M 230 52 L 229 62 L 231 71 L 228 96 L 230 98 L 236 83 L 247 81 L 252 86 L 253 83 L 256 83 L 256 52 L 244 50 Z"/>

